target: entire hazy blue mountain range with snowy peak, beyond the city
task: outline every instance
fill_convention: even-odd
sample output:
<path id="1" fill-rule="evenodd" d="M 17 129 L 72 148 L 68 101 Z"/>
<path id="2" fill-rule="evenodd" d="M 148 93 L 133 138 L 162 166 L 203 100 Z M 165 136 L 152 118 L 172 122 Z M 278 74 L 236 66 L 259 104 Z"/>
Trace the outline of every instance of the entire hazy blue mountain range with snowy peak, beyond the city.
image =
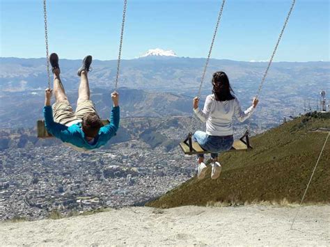
<path id="1" fill-rule="evenodd" d="M 198 92 L 204 58 L 148 55 L 121 63 L 119 91 L 122 117 L 190 115 L 191 99 Z M 150 54 L 157 54 L 150 51 Z M 167 52 L 167 51 L 166 51 Z M 169 51 L 168 51 L 169 52 Z M 60 54 L 61 55 L 61 54 Z M 0 127 L 32 127 L 42 118 L 47 87 L 44 58 L 0 58 Z M 109 118 L 110 92 L 117 61 L 93 61 L 89 73 L 91 97 L 102 118 Z M 81 60 L 61 59 L 61 78 L 72 106 L 77 100 Z M 227 72 L 235 94 L 247 108 L 256 94 L 267 63 L 211 59 L 201 93 L 211 93 L 212 72 Z M 303 111 L 304 99 L 315 109 L 320 90 L 330 91 L 329 62 L 273 63 L 253 115 L 264 127 L 278 124 L 283 116 Z M 293 113 L 292 113 L 293 111 Z M 295 111 L 295 113 L 294 113 Z"/>

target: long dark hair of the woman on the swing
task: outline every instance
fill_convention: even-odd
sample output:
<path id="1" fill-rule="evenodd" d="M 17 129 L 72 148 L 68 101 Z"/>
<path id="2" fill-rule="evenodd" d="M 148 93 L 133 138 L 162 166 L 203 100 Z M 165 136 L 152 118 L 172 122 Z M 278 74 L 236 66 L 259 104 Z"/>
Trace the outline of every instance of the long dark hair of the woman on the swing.
<path id="1" fill-rule="evenodd" d="M 222 71 L 215 72 L 212 77 L 213 90 L 215 100 L 226 101 L 235 99 L 234 91 L 230 86 L 227 74 Z"/>

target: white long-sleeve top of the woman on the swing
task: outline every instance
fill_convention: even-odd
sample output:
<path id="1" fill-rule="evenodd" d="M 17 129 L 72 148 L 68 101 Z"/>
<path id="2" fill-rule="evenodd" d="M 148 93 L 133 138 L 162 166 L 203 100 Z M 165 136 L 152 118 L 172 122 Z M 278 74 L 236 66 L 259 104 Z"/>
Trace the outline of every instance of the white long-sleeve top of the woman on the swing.
<path id="1" fill-rule="evenodd" d="M 197 108 L 194 113 L 202 122 L 206 122 L 206 134 L 229 136 L 233 134 L 233 116 L 239 122 L 244 122 L 254 110 L 255 108 L 250 106 L 246 111 L 242 111 L 237 98 L 221 102 L 212 94 L 206 97 L 203 110 Z"/>

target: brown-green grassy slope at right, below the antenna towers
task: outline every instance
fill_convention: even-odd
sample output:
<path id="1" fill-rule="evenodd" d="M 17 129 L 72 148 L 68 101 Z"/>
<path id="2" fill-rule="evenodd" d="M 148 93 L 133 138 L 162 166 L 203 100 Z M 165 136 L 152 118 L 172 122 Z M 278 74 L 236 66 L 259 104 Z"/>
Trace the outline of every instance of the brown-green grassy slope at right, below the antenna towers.
<path id="1" fill-rule="evenodd" d="M 258 202 L 262 200 L 300 202 L 327 132 L 311 132 L 330 127 L 330 113 L 303 116 L 251 138 L 250 152 L 228 152 L 219 160 L 223 172 L 210 179 L 191 178 L 151 207 L 207 205 L 208 202 Z M 330 202 L 330 140 L 324 148 L 304 202 Z"/>

